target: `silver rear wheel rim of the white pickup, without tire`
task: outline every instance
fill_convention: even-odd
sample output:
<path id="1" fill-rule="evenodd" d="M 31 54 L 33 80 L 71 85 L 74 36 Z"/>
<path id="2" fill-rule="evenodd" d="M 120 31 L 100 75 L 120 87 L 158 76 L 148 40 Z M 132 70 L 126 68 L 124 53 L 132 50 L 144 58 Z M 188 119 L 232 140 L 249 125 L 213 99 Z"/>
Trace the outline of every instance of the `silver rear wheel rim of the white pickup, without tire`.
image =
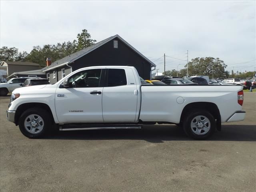
<path id="1" fill-rule="evenodd" d="M 192 132 L 194 132 L 194 134 L 204 135 L 210 130 L 211 123 L 206 116 L 199 115 L 199 116 L 195 116 L 192 119 L 190 123 L 190 128 Z"/>

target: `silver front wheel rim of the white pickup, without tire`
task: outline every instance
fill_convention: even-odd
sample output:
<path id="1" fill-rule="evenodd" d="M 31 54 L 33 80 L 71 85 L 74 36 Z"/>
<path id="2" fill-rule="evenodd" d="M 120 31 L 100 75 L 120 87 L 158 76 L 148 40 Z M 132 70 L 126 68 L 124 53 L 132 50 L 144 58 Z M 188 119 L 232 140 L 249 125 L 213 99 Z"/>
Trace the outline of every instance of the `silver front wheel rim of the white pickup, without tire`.
<path id="1" fill-rule="evenodd" d="M 40 133 L 44 129 L 44 120 L 37 114 L 31 114 L 26 117 L 24 127 L 29 133 Z"/>

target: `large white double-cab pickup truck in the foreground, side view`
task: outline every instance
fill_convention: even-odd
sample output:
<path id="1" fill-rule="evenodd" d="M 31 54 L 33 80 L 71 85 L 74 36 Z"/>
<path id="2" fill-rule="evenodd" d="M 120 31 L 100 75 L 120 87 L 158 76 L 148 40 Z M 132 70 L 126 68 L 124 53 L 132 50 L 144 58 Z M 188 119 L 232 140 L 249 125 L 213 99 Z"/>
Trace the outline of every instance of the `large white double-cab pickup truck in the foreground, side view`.
<path id="1" fill-rule="evenodd" d="M 17 88 L 7 118 L 28 138 L 53 128 L 89 130 L 178 124 L 206 139 L 222 122 L 242 121 L 242 86 L 147 85 L 131 66 L 76 70 L 51 85 Z"/>

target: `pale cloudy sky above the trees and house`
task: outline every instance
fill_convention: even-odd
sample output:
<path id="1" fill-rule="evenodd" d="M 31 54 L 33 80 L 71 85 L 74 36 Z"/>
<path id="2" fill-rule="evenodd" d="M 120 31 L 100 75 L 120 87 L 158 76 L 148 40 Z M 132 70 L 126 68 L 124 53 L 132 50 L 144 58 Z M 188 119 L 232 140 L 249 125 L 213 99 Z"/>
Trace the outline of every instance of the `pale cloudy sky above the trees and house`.
<path id="1" fill-rule="evenodd" d="M 226 70 L 256 67 L 256 1 L 0 1 L 0 46 L 74 40 L 87 29 L 100 41 L 119 34 L 166 70 L 188 59 L 218 57 Z M 164 58 L 155 64 L 164 70 Z"/>

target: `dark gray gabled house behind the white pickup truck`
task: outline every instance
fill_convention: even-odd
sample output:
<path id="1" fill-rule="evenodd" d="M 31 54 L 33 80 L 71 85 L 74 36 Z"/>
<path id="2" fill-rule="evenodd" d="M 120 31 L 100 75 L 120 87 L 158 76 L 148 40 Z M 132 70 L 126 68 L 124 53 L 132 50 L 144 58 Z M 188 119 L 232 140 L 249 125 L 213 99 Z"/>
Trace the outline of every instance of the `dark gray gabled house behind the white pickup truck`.
<path id="1" fill-rule="evenodd" d="M 151 71 L 156 67 L 119 35 L 102 40 L 52 64 L 50 60 L 47 63 L 42 71 L 46 73 L 50 83 L 57 82 L 77 69 L 89 66 L 134 66 L 144 79 L 150 79 Z"/>

